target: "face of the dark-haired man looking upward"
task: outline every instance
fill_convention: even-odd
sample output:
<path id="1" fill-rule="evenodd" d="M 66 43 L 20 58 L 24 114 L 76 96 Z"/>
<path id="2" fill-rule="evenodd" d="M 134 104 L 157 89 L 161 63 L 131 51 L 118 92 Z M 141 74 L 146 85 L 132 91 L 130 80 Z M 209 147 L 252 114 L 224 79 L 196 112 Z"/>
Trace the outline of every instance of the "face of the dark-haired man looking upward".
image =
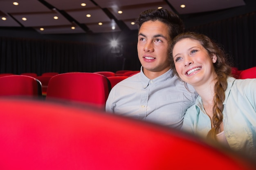
<path id="1" fill-rule="evenodd" d="M 171 42 L 168 26 L 163 22 L 144 22 L 138 34 L 138 57 L 144 74 L 152 72 L 162 75 L 170 69 L 168 46 Z"/>

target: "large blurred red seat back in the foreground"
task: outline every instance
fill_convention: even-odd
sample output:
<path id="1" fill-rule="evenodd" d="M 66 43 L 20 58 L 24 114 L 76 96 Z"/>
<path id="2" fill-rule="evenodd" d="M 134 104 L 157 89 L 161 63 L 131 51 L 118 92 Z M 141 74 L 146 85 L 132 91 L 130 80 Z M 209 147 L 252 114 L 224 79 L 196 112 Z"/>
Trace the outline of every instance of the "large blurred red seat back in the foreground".
<path id="1" fill-rule="evenodd" d="M 0 108 L 1 170 L 256 168 L 183 132 L 84 105 L 0 99 Z"/>

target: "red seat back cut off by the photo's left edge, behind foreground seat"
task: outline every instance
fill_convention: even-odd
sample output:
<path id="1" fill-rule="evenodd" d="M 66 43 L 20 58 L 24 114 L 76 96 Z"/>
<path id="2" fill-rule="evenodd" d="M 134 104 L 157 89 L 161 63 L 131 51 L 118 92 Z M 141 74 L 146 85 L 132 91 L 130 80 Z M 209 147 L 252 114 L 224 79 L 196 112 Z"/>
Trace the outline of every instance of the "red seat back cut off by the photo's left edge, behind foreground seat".
<path id="1" fill-rule="evenodd" d="M 41 96 L 42 86 L 34 77 L 8 75 L 0 77 L 0 96 Z"/>

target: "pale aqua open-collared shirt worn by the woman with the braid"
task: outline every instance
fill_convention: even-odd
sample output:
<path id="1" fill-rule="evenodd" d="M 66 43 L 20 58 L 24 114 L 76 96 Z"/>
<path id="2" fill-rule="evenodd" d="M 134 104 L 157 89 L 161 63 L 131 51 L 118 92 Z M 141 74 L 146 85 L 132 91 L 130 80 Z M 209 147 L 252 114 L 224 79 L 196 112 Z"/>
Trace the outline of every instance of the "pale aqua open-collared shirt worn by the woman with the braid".
<path id="1" fill-rule="evenodd" d="M 229 77 L 223 104 L 223 126 L 230 148 L 256 156 L 256 79 Z M 187 110 L 183 129 L 202 137 L 211 130 L 200 96 Z"/>

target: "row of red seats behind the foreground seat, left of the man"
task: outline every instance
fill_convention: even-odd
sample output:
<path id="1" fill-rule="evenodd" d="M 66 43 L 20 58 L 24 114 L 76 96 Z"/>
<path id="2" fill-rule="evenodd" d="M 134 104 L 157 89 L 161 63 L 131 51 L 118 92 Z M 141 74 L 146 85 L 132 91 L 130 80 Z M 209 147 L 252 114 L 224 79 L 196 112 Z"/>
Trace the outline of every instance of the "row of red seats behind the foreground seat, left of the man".
<path id="1" fill-rule="evenodd" d="M 7 75 L 0 77 L 1 96 L 32 96 L 45 99 L 63 99 L 105 108 L 106 100 L 114 83 L 126 76 L 106 77 L 97 73 L 62 73 L 54 76 L 31 77 Z M 45 80 L 45 81 L 42 81 Z M 110 83 L 110 80 L 112 84 Z M 43 86 L 43 83 L 45 86 Z M 45 90 L 45 91 L 44 91 Z"/>

